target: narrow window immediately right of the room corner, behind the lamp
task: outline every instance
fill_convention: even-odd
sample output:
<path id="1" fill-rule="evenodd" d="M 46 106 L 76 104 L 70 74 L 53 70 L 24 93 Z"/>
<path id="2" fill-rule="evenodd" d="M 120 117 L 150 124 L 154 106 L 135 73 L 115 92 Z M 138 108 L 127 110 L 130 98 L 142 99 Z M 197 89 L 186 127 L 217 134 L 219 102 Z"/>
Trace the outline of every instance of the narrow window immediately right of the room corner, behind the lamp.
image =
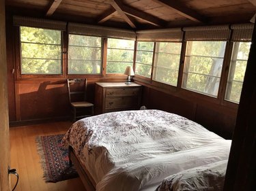
<path id="1" fill-rule="evenodd" d="M 151 77 L 154 42 L 138 41 L 135 73 Z"/>

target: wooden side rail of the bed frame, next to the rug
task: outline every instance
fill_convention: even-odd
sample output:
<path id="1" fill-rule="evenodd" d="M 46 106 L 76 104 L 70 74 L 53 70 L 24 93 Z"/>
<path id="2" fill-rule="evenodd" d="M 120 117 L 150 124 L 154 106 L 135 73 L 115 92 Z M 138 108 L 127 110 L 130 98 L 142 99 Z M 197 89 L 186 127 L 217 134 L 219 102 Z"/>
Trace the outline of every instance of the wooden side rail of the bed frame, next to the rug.
<path id="1" fill-rule="evenodd" d="M 77 173 L 79 173 L 79 177 L 81 178 L 86 191 L 96 191 L 96 183 L 94 179 L 91 177 L 89 171 L 87 171 L 85 165 L 83 165 L 81 160 L 76 156 L 71 146 L 68 147 L 68 157 L 70 160 L 70 166 L 74 164 L 74 168 Z"/>

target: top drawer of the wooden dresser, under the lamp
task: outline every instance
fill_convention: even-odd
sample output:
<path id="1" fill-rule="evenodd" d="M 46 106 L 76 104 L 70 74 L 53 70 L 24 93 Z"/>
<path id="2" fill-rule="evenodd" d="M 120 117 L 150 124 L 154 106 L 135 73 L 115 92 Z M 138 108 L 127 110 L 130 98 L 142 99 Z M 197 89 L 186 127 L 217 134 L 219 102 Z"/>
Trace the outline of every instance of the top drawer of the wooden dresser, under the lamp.
<path id="1" fill-rule="evenodd" d="M 141 88 L 107 88 L 106 97 L 113 96 L 135 96 L 139 94 Z"/>

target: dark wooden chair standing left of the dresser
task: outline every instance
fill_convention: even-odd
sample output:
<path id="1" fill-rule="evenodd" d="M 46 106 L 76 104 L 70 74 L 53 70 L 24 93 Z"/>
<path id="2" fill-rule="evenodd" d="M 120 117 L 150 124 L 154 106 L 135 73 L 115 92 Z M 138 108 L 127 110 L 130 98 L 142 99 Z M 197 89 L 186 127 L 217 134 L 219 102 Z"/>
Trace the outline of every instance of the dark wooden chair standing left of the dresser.
<path id="1" fill-rule="evenodd" d="M 72 107 L 73 120 L 77 118 L 86 118 L 94 115 L 94 104 L 86 101 L 87 80 L 68 79 L 68 96 Z M 90 108 L 90 114 L 86 113 Z"/>

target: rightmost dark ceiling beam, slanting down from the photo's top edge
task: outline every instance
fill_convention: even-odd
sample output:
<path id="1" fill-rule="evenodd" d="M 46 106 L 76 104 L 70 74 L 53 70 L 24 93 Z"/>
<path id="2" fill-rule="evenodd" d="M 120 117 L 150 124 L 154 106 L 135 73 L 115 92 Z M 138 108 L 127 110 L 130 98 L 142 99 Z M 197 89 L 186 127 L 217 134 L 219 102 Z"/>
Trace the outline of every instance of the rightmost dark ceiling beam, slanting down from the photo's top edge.
<path id="1" fill-rule="evenodd" d="M 175 12 L 178 14 L 193 20 L 195 22 L 206 22 L 206 18 L 204 16 L 201 16 L 198 14 L 195 10 L 191 10 L 190 8 L 186 7 L 183 3 L 180 3 L 179 1 L 169 1 L 169 0 L 153 0 L 157 3 L 160 3 L 161 5 L 165 7 L 171 7 Z"/>

